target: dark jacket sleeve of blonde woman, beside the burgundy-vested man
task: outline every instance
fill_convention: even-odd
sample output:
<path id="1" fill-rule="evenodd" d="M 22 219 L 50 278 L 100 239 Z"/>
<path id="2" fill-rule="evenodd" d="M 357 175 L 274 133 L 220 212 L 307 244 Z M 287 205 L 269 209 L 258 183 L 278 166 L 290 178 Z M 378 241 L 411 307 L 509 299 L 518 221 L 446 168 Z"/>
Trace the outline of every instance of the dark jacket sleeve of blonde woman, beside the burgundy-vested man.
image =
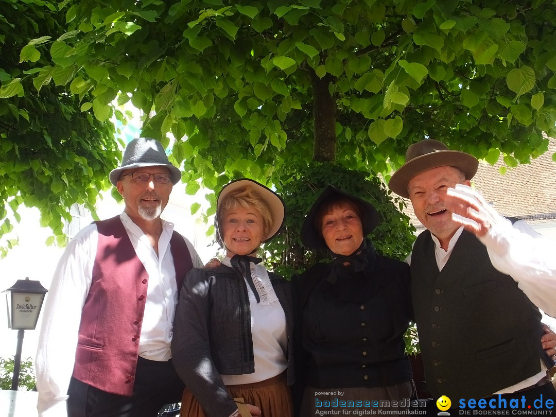
<path id="1" fill-rule="evenodd" d="M 210 282 L 192 269 L 183 280 L 172 337 L 172 363 L 207 415 L 233 416 L 230 398 L 211 358 Z"/>

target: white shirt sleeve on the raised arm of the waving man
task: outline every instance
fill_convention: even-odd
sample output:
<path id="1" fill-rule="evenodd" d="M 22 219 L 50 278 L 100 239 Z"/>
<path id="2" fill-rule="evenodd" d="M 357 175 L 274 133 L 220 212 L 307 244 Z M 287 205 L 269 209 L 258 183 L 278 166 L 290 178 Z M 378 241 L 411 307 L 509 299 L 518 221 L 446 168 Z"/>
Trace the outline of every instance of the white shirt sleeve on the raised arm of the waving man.
<path id="1" fill-rule="evenodd" d="M 533 304 L 556 316 L 556 242 L 523 220 L 512 225 L 502 216 L 479 240 L 498 271 L 510 275 Z"/>

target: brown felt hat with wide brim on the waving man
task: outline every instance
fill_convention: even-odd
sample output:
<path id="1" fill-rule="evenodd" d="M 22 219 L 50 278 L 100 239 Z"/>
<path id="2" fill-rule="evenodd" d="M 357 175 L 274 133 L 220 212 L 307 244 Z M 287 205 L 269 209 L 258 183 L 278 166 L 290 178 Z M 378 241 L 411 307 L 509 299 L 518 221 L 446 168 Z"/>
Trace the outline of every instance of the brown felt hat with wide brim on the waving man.
<path id="1" fill-rule="evenodd" d="M 425 139 L 408 148 L 404 165 L 394 172 L 388 187 L 396 194 L 409 198 L 408 183 L 411 178 L 440 166 L 459 168 L 465 174 L 465 179 L 470 180 L 477 172 L 479 161 L 469 153 L 451 151 L 442 142 Z"/>

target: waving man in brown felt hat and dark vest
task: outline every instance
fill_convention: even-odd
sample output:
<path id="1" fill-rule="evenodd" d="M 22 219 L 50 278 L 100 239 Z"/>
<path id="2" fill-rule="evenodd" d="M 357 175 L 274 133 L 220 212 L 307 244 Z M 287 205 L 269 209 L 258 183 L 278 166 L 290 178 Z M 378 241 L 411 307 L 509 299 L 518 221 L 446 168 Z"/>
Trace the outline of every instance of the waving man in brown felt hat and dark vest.
<path id="1" fill-rule="evenodd" d="M 485 237 L 484 228 L 479 238 L 464 230 L 461 223 L 469 220 L 461 214 L 468 210 L 447 192 L 456 185 L 470 190 L 477 168 L 468 153 L 426 139 L 408 148 L 406 163 L 389 182 L 392 191 L 410 198 L 427 229 L 408 259 L 427 387 L 434 398 L 446 395 L 456 406 L 495 395 L 508 402 L 523 396 L 525 406 L 541 398 L 545 409 L 545 400 L 556 400 L 547 378 L 554 351 L 547 353 L 539 342 L 545 331 L 538 307 L 556 314 L 556 269 L 552 279 L 538 279 L 534 266 L 508 256 L 512 251 Z M 451 205 L 459 207 L 458 221 Z M 495 220 L 535 234 L 523 221 L 512 225 L 498 214 Z M 505 257 L 504 266 L 493 256 Z"/>

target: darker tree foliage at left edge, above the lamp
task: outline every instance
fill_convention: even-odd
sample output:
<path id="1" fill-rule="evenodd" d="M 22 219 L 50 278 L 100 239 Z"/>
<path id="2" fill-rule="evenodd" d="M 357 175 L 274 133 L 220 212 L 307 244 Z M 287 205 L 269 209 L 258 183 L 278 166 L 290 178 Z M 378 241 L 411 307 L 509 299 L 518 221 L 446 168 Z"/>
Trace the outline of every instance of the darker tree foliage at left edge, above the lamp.
<path id="1" fill-rule="evenodd" d="M 120 155 L 114 126 L 81 111 L 80 97 L 64 90 L 58 71 L 48 76 L 55 82 L 42 88 L 46 78 L 34 78 L 37 69 L 30 67 L 48 66 L 49 57 L 26 56 L 22 48 L 29 39 L 66 32 L 56 4 L 0 4 L 0 236 L 12 230 L 10 218 L 19 221 L 18 207 L 25 205 L 38 207 L 41 224 L 62 242 L 68 207 L 81 203 L 94 212 L 98 192 L 107 186 Z M 20 54 L 29 63 L 20 62 Z M 15 243 L 9 239 L 0 253 Z"/>

